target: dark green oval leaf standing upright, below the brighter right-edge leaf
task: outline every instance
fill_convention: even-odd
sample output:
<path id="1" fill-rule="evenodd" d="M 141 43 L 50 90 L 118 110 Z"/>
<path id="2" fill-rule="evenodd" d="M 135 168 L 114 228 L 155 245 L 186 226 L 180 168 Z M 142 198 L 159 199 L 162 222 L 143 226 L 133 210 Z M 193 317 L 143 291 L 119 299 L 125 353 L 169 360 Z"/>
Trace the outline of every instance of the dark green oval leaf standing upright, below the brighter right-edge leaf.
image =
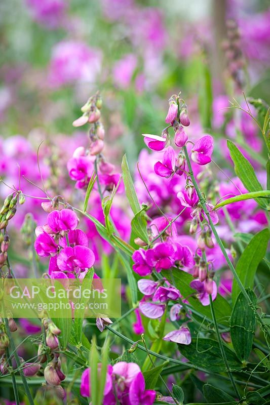
<path id="1" fill-rule="evenodd" d="M 246 289 L 246 292 L 256 306 L 255 293 Z M 253 344 L 253 336 L 256 327 L 256 315 L 253 309 L 247 305 L 247 300 L 242 292 L 239 293 L 230 317 L 230 336 L 236 351 L 236 355 L 242 362 L 247 362 Z"/>

